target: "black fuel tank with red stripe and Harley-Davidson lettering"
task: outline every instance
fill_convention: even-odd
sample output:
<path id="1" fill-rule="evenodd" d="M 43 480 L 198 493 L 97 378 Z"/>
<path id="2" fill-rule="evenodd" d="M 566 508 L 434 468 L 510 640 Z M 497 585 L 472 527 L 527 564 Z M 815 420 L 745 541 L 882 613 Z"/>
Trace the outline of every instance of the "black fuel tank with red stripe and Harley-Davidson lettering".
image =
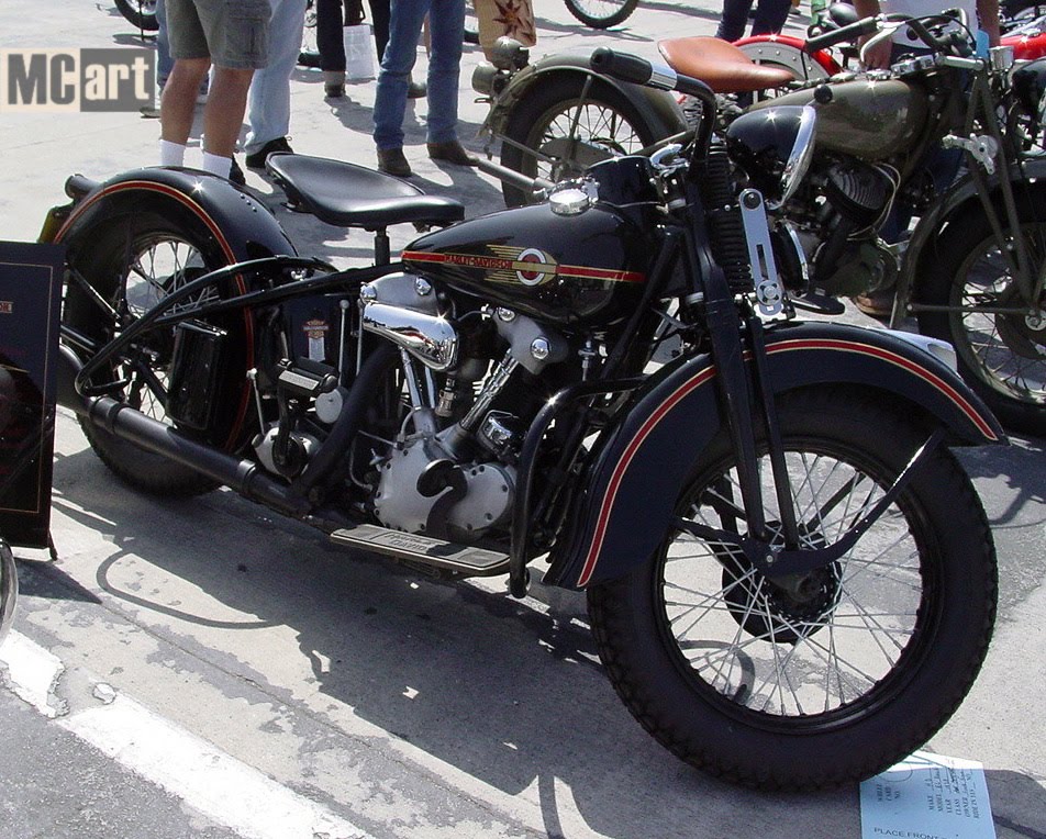
<path id="1" fill-rule="evenodd" d="M 598 202 L 504 210 L 415 239 L 407 270 L 535 320 L 612 325 L 643 294 L 656 242 L 643 212 Z"/>

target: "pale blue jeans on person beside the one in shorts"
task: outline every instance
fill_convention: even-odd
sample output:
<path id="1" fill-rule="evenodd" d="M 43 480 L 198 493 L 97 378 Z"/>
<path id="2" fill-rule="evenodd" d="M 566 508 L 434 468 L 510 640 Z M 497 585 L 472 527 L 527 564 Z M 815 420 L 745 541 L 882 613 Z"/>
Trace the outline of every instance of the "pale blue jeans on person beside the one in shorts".
<path id="1" fill-rule="evenodd" d="M 244 149 L 257 152 L 290 131 L 290 75 L 301 52 L 305 0 L 269 0 L 269 64 L 257 70 L 247 94 L 247 137 Z"/>

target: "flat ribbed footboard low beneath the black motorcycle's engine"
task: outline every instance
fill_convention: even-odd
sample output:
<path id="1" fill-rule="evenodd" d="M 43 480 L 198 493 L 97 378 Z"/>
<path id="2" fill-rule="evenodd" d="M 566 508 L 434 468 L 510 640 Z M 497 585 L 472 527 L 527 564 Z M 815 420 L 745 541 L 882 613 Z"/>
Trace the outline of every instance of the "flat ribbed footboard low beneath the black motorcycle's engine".
<path id="1" fill-rule="evenodd" d="M 504 573 L 509 568 L 508 553 L 471 545 L 455 545 L 443 539 L 390 530 L 377 525 L 335 530 L 331 534 L 331 541 L 472 577 L 492 577 Z"/>

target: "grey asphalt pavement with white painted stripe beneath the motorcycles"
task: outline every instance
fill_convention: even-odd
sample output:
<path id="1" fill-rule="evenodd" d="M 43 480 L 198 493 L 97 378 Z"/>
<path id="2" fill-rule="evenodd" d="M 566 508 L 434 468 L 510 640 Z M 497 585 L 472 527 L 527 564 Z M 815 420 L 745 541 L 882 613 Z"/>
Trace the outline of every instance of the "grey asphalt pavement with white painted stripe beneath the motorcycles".
<path id="1" fill-rule="evenodd" d="M 605 44 L 653 58 L 658 38 L 711 34 L 719 3 L 641 0 L 610 32 L 558 0 L 536 14 L 534 55 Z M 107 0 L 0 4 L 0 49 L 114 45 L 141 40 Z M 467 46 L 461 74 L 474 150 L 480 57 Z M 291 144 L 372 165 L 372 82 L 324 100 L 319 72 L 300 68 Z M 408 112 L 414 182 L 470 214 L 501 209 L 497 181 L 427 159 L 424 115 L 424 102 Z M 138 113 L 0 112 L 0 238 L 35 239 L 73 172 L 156 163 L 158 130 Z M 366 234 L 290 213 L 262 175 L 247 179 L 300 253 L 369 260 Z M 392 231 L 393 248 L 413 235 Z M 995 535 L 1000 615 L 972 692 L 927 748 L 984 764 L 999 837 L 1043 839 L 1046 441 L 962 461 Z M 19 552 L 0 649 L 4 839 L 860 836 L 856 786 L 757 794 L 657 746 L 602 674 L 579 595 L 538 586 L 518 602 L 501 580 L 415 577 L 226 491 L 144 497 L 64 410 L 54 488 L 58 559 Z"/>

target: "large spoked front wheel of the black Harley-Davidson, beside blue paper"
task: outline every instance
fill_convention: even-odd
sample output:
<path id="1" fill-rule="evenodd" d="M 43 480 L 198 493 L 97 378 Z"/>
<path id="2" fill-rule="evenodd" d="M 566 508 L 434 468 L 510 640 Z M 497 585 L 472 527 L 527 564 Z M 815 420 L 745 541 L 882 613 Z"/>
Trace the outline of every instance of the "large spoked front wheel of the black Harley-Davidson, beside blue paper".
<path id="1" fill-rule="evenodd" d="M 780 402 L 801 540 L 835 542 L 883 495 L 928 432 L 861 393 Z M 780 527 L 770 467 L 763 497 Z M 725 434 L 676 515 L 744 534 Z M 995 612 L 991 532 L 944 448 L 855 547 L 804 578 L 772 580 L 736 547 L 681 528 L 630 574 L 589 591 L 600 658 L 632 714 L 694 767 L 761 790 L 869 778 L 925 742 L 980 668 Z"/>

